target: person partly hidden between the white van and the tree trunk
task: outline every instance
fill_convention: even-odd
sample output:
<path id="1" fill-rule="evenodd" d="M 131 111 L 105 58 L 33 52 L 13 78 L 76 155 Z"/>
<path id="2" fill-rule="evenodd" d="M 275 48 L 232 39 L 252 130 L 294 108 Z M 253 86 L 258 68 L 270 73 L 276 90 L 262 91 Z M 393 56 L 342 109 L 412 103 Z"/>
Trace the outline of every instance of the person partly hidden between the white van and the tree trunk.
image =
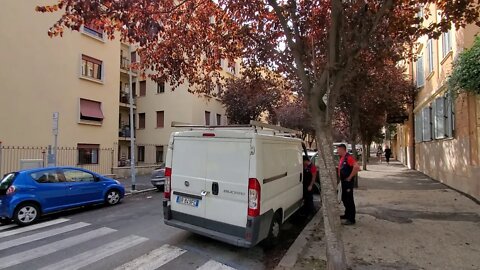
<path id="1" fill-rule="evenodd" d="M 307 217 L 315 214 L 313 205 L 313 185 L 317 176 L 317 168 L 308 156 L 303 156 L 303 213 Z"/>

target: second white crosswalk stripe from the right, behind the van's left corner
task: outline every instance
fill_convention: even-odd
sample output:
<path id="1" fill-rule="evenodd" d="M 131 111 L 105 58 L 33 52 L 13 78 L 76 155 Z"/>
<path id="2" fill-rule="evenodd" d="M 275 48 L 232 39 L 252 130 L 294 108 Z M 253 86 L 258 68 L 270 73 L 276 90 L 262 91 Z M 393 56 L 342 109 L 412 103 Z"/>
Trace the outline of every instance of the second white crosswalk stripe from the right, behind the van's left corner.
<path id="1" fill-rule="evenodd" d="M 178 247 L 163 245 L 158 249 L 152 250 L 149 253 L 116 268 L 115 270 L 154 270 L 169 263 L 185 252 L 187 251 Z"/>

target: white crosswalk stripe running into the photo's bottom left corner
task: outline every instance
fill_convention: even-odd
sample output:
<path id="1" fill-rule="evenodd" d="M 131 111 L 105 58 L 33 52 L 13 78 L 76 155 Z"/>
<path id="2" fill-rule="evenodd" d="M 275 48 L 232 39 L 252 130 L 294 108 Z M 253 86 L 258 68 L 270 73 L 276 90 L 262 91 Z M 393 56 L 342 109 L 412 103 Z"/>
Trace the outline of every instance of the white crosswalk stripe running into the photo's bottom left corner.
<path id="1" fill-rule="evenodd" d="M 102 227 L 93 231 L 82 233 L 73 237 L 69 237 L 60 241 L 56 241 L 50 244 L 46 244 L 34 249 L 30 249 L 24 252 L 16 253 L 10 256 L 0 258 L 0 269 L 4 269 L 10 266 L 21 264 L 36 258 L 43 257 L 61 251 L 62 249 L 78 245 L 80 243 L 87 242 L 97 237 L 113 233 L 116 230 Z"/>

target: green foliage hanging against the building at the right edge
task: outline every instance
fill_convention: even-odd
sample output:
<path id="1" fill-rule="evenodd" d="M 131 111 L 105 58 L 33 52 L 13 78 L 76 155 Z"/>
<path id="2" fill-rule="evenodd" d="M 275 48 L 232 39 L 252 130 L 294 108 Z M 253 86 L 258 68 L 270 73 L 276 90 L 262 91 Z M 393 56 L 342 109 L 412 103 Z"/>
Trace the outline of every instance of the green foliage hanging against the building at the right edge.
<path id="1" fill-rule="evenodd" d="M 480 36 L 477 36 L 472 48 L 463 51 L 455 61 L 448 85 L 455 92 L 480 95 Z"/>

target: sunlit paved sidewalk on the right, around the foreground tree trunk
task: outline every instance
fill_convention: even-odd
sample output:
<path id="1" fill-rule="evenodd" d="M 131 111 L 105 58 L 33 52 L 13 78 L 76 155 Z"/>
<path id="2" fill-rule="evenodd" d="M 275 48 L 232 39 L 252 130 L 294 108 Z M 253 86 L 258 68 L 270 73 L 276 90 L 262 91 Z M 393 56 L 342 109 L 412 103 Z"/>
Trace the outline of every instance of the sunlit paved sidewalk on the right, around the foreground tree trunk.
<path id="1" fill-rule="evenodd" d="M 476 202 L 398 162 L 369 165 L 355 192 L 357 223 L 343 227 L 351 269 L 480 269 Z M 323 269 L 323 223 L 312 222 L 287 252 L 300 254 L 294 266 L 280 269 Z"/>

